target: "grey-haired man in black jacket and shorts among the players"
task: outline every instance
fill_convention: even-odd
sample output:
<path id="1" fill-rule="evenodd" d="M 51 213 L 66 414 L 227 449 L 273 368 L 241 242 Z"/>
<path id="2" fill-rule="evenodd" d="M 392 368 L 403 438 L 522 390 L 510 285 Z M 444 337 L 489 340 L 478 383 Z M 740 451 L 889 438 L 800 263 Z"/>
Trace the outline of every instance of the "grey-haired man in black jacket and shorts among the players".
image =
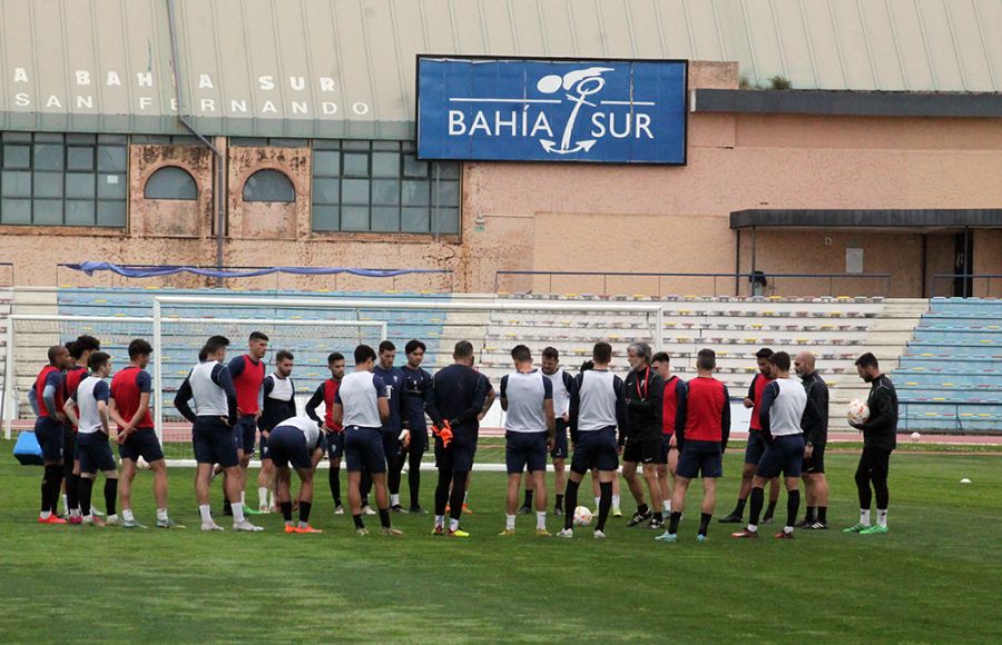
<path id="1" fill-rule="evenodd" d="M 667 463 L 661 450 L 661 415 L 664 413 L 665 381 L 650 365 L 650 346 L 635 343 L 627 349 L 630 374 L 623 389 L 627 399 L 626 446 L 622 450 L 622 476 L 637 500 L 637 513 L 627 526 L 637 526 L 650 519 L 650 528 L 661 528 L 661 487 L 658 483 L 658 464 Z M 620 439 L 622 441 L 622 439 Z M 622 445 L 622 443 L 620 443 Z M 642 464 L 644 480 L 650 492 L 648 508 L 644 488 L 637 478 L 637 464 Z M 651 516 L 652 515 L 652 516 Z"/>

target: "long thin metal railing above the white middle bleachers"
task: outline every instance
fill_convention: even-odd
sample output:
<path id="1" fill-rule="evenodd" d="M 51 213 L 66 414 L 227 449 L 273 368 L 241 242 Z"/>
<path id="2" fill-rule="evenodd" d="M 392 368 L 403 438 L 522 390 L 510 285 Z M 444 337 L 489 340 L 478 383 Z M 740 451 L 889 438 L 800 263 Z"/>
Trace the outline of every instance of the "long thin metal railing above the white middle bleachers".
<path id="1" fill-rule="evenodd" d="M 632 284 L 640 284 L 639 281 L 644 280 L 656 280 L 657 284 L 657 295 L 664 296 L 665 294 L 665 281 L 666 280 L 678 280 L 684 282 L 686 287 L 685 291 L 676 291 L 676 292 L 699 292 L 701 289 L 694 287 L 694 282 L 696 280 L 710 280 L 711 288 L 709 290 L 713 291 L 713 296 L 739 296 L 741 286 L 747 285 L 747 289 L 749 295 L 762 295 L 762 296 L 775 296 L 775 295 L 788 295 L 788 296 L 835 296 L 835 282 L 836 280 L 876 280 L 880 282 L 880 288 L 874 292 L 870 292 L 866 295 L 870 296 L 886 296 L 891 289 L 891 274 L 768 274 L 762 271 L 753 271 L 747 274 L 713 274 L 713 272 L 662 272 L 662 274 L 654 274 L 654 272 L 633 272 L 633 271 L 497 271 L 494 274 L 494 291 L 502 290 L 502 279 L 507 276 L 525 276 L 530 277 L 532 281 L 537 278 L 544 278 L 547 280 L 547 292 L 552 294 L 553 291 L 553 278 L 570 278 L 578 277 L 583 278 L 584 280 L 579 281 L 578 288 L 569 288 L 561 289 L 561 291 L 573 291 L 573 292 L 593 292 L 597 289 L 593 288 L 583 288 L 583 281 L 587 281 L 591 278 L 595 278 L 596 286 L 598 285 L 598 279 L 601 279 L 601 292 L 597 295 L 602 296 L 613 296 L 617 294 L 626 294 L 626 292 L 636 292 L 638 288 L 633 287 L 632 289 L 623 289 L 619 290 L 616 294 L 610 292 L 609 282 L 610 279 L 629 279 Z M 730 286 L 726 289 L 719 286 L 719 280 L 724 279 L 727 282 L 730 282 Z M 763 279 L 765 285 L 763 285 Z M 822 284 L 827 284 L 827 289 L 821 289 L 824 292 L 817 292 L 817 290 L 805 289 L 807 292 L 782 292 L 783 289 L 779 289 L 776 285 L 777 281 L 785 282 L 788 280 L 799 280 L 802 282 L 808 280 L 819 280 Z M 760 289 L 756 289 L 756 287 L 760 286 Z M 504 289 L 505 291 L 534 291 L 534 288 L 530 289 Z M 858 289 L 856 289 L 858 290 Z M 723 292 L 726 291 L 726 292 Z M 780 291 L 777 294 L 777 291 Z M 648 294 L 654 295 L 654 294 Z M 862 295 L 862 294 L 861 294 Z"/>

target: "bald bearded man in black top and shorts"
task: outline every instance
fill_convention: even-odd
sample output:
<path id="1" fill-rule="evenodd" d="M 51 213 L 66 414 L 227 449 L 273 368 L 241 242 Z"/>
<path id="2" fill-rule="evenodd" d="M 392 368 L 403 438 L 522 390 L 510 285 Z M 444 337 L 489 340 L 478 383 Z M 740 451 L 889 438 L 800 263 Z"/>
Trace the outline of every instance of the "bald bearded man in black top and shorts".
<path id="1" fill-rule="evenodd" d="M 794 358 L 794 368 L 807 401 L 814 404 L 817 416 L 804 429 L 804 466 L 800 477 L 807 494 L 807 516 L 797 524 L 800 528 L 828 528 L 828 480 L 825 478 L 825 444 L 828 440 L 828 386 L 817 374 L 814 355 L 802 351 Z"/>

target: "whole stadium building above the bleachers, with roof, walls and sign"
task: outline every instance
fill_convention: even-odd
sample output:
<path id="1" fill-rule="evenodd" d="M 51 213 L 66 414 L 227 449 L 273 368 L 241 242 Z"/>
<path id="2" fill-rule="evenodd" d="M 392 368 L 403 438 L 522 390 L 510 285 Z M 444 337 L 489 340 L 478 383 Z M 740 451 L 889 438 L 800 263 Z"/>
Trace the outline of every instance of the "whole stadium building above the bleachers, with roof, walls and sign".
<path id="1" fill-rule="evenodd" d="M 996 0 L 8 2 L 0 259 L 19 285 L 105 260 L 446 269 L 469 292 L 733 295 L 762 271 L 784 296 L 998 297 L 976 276 L 1002 274 L 999 24 Z M 472 76 L 435 85 L 422 56 Z M 419 129 L 422 99 L 501 88 L 481 82 L 499 61 L 525 91 Z M 681 64 L 681 93 L 641 100 L 637 67 L 613 96 L 641 61 Z M 573 111 L 530 112 L 557 103 Z M 461 145 L 436 152 L 436 133 Z"/>

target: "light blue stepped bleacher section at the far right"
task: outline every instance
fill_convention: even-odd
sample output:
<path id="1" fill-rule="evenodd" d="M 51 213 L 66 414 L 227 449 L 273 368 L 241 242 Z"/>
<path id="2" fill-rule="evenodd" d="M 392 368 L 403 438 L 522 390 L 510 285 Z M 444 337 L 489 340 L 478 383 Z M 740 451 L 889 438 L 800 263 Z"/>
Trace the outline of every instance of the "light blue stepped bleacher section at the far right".
<path id="1" fill-rule="evenodd" d="M 1002 300 L 934 298 L 894 373 L 903 431 L 1002 431 Z"/>

